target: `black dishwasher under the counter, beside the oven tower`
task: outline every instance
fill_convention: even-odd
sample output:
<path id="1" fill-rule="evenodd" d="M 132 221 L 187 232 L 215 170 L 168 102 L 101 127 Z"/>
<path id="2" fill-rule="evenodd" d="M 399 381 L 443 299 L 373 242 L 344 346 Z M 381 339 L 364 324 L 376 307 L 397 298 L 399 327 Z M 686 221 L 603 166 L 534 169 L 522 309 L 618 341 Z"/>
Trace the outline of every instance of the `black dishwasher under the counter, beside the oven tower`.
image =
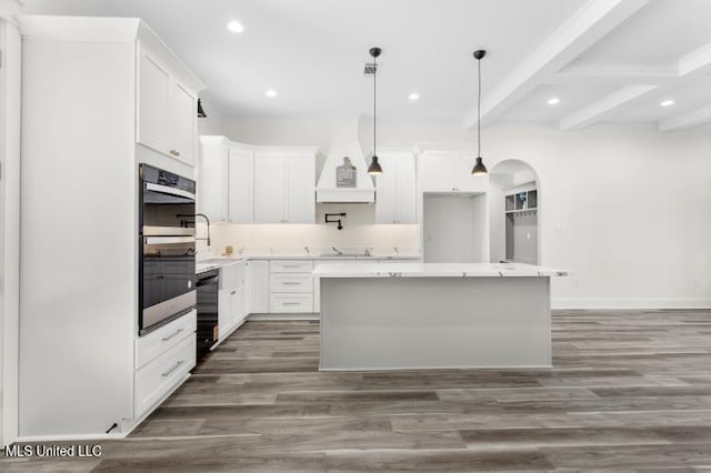
<path id="1" fill-rule="evenodd" d="M 218 342 L 218 291 L 220 270 L 207 270 L 196 276 L 198 290 L 198 360 Z"/>

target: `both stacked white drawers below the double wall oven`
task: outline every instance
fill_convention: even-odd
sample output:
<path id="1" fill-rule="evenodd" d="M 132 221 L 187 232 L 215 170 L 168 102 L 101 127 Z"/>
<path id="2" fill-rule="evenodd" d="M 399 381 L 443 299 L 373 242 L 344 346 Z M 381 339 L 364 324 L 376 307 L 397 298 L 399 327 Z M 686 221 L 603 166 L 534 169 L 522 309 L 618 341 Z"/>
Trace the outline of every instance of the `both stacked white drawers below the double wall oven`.
<path id="1" fill-rule="evenodd" d="M 196 365 L 196 329 L 197 313 L 193 311 L 137 340 L 136 419 L 154 407 Z"/>

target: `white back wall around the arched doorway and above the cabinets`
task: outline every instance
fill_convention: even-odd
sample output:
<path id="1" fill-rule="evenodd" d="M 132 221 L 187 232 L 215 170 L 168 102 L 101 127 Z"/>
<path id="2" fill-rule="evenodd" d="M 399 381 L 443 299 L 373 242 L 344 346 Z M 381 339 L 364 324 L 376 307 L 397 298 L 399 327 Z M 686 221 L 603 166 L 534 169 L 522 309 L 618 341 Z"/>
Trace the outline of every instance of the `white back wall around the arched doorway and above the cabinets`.
<path id="1" fill-rule="evenodd" d="M 379 121 L 379 143 L 471 141 L 454 123 Z M 236 141 L 318 144 L 328 120 L 224 124 Z M 372 147 L 361 125 L 361 145 Z M 599 125 L 572 132 L 525 124 L 482 130 L 487 165 L 520 159 L 537 171 L 541 264 L 555 280 L 555 306 L 711 306 L 711 129 L 660 133 Z"/>

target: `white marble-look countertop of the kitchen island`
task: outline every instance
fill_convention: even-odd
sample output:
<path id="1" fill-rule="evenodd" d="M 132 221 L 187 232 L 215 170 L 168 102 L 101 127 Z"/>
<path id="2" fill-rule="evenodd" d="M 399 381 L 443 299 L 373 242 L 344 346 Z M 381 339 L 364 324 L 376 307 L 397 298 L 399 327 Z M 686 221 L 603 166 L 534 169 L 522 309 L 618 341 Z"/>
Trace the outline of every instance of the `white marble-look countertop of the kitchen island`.
<path id="1" fill-rule="evenodd" d="M 522 263 L 364 263 L 321 264 L 317 278 L 534 278 L 564 276 L 568 271 Z"/>

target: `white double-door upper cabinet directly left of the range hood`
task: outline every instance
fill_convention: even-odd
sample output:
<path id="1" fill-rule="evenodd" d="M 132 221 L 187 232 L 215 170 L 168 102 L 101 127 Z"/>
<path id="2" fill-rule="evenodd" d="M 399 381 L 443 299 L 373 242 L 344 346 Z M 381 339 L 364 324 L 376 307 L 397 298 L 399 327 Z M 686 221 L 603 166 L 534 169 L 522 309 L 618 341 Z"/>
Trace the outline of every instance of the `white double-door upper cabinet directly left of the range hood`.
<path id="1" fill-rule="evenodd" d="M 316 149 L 254 151 L 254 222 L 316 222 Z"/>

